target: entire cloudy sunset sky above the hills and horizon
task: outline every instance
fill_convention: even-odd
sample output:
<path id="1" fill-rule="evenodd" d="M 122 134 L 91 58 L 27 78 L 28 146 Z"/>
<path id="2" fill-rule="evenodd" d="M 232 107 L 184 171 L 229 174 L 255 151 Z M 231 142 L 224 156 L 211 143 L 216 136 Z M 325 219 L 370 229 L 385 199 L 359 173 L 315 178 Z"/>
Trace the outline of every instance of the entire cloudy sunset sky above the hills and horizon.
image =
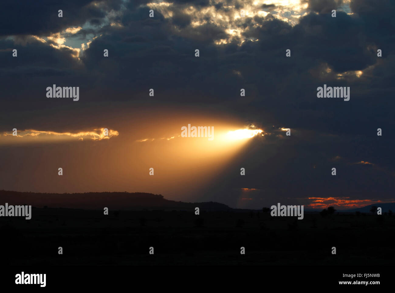
<path id="1" fill-rule="evenodd" d="M 393 202 L 394 13 L 386 0 L 3 4 L 0 189 L 256 209 Z M 79 100 L 48 98 L 53 85 Z M 350 100 L 318 98 L 324 85 Z M 182 137 L 188 124 L 213 140 Z M 243 129 L 261 132 L 228 135 Z"/>

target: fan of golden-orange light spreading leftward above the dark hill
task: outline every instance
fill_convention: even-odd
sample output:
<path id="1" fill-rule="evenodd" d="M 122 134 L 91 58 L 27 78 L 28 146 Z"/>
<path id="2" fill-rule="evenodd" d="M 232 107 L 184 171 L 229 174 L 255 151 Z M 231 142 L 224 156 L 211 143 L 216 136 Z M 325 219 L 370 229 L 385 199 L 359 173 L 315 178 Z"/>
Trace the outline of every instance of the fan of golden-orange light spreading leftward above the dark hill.
<path id="1" fill-rule="evenodd" d="M 32 145 L 34 155 L 32 152 L 22 155 L 20 160 L 30 168 L 18 169 L 20 176 L 16 179 L 14 173 L 4 174 L 3 188 L 61 193 L 150 192 L 162 194 L 166 199 L 193 201 L 254 140 L 227 137 L 229 131 L 246 128 L 245 121 L 221 113 L 202 112 L 195 108 L 164 111 L 163 107 L 150 107 L 134 109 L 133 115 L 127 110 L 116 115 L 95 112 L 97 121 L 93 122 L 83 122 L 81 115 L 73 124 L 58 123 L 55 129 L 10 125 L 6 132 L 0 133 L 0 145 L 18 148 Z M 91 123 L 102 128 L 90 128 Z M 188 124 L 213 127 L 214 139 L 181 137 L 181 128 Z M 14 127 L 17 136 L 12 135 Z M 108 138 L 103 135 L 104 127 L 109 130 Z M 36 154 L 36 150 L 45 155 Z M 9 158 L 15 155 L 14 151 L 16 154 L 17 148 L 11 148 Z M 9 166 L 13 162 L 10 159 L 4 164 Z M 64 170 L 62 177 L 57 173 L 59 167 Z M 150 168 L 154 168 L 154 176 L 149 175 Z"/>

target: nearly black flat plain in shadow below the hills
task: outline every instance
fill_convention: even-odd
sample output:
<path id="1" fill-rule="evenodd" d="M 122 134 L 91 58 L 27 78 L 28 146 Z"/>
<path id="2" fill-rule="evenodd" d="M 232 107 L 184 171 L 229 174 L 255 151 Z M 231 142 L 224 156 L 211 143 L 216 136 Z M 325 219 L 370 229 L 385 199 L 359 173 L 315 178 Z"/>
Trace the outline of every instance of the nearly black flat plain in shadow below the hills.
<path id="1" fill-rule="evenodd" d="M 392 265 L 395 216 L 32 208 L 0 218 L 9 265 Z M 58 247 L 63 254 L 58 254 Z M 149 248 L 154 247 L 154 254 Z M 240 248 L 245 247 L 245 255 Z M 335 246 L 337 254 L 331 254 Z"/>

